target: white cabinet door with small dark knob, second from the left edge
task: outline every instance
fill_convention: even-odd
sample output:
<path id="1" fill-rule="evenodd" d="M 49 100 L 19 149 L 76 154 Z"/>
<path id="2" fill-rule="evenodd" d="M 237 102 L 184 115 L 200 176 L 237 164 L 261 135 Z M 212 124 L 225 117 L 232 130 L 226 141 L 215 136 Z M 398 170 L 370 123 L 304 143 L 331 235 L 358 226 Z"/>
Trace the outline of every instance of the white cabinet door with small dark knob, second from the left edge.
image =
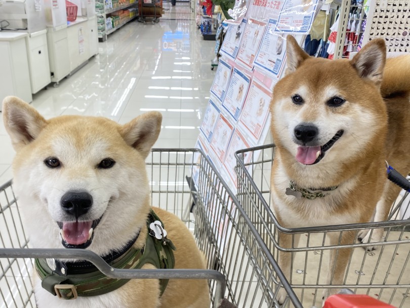
<path id="1" fill-rule="evenodd" d="M 26 42 L 31 93 L 37 93 L 51 83 L 47 30 L 29 33 Z"/>

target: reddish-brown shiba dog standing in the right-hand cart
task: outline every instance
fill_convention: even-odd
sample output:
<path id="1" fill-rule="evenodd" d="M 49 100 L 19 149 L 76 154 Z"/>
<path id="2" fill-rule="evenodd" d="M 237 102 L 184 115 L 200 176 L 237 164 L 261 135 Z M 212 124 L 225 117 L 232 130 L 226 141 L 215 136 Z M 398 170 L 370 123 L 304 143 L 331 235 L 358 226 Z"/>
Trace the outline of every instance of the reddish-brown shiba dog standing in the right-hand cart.
<path id="1" fill-rule="evenodd" d="M 286 75 L 271 101 L 276 144 L 271 172 L 273 211 L 287 228 L 387 220 L 400 188 L 385 161 L 410 171 L 410 56 L 386 60 L 383 39 L 351 60 L 309 57 L 288 35 Z M 380 242 L 383 229 L 363 230 L 362 243 Z M 352 244 L 355 231 L 328 233 L 331 245 Z M 300 235 L 280 234 L 283 248 Z M 367 249 L 373 249 L 368 245 Z M 351 249 L 330 252 L 326 284 L 343 285 Z M 291 254 L 279 265 L 291 275 Z M 335 263 L 336 262 L 336 263 Z M 280 301 L 285 292 L 281 291 Z M 337 292 L 325 289 L 323 298 Z"/>

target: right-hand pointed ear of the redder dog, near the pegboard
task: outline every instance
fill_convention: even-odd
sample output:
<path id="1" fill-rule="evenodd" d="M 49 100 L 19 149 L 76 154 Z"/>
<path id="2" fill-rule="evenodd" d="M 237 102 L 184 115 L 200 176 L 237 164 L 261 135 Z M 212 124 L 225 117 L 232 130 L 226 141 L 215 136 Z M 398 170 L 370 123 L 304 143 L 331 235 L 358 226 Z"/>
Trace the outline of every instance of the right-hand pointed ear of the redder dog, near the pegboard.
<path id="1" fill-rule="evenodd" d="M 386 64 L 386 42 L 377 38 L 367 43 L 350 61 L 361 78 L 367 78 L 380 86 Z"/>

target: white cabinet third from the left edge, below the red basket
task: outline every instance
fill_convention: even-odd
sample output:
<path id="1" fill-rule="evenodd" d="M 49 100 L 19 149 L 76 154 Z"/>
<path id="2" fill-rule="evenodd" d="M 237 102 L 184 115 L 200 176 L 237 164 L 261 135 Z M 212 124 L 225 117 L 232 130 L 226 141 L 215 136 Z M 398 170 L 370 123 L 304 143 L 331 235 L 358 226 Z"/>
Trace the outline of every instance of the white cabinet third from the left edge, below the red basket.
<path id="1" fill-rule="evenodd" d="M 70 73 L 67 26 L 47 26 L 47 45 L 49 49 L 51 81 L 59 83 Z"/>

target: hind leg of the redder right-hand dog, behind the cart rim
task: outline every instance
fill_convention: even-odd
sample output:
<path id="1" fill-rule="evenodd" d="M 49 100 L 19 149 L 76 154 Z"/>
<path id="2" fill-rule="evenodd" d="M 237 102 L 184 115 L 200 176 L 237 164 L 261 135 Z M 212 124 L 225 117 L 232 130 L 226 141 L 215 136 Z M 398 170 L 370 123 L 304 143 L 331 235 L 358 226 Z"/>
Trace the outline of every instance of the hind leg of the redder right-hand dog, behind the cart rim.
<path id="1" fill-rule="evenodd" d="M 376 214 L 374 221 L 386 221 L 389 216 L 390 208 L 400 193 L 400 187 L 396 184 L 387 181 L 384 185 L 382 198 L 376 206 Z M 364 230 L 367 234 L 362 238 L 362 243 L 380 242 L 383 238 L 383 228 L 375 228 L 372 230 Z M 376 249 L 375 246 L 367 246 L 368 251 Z"/>

